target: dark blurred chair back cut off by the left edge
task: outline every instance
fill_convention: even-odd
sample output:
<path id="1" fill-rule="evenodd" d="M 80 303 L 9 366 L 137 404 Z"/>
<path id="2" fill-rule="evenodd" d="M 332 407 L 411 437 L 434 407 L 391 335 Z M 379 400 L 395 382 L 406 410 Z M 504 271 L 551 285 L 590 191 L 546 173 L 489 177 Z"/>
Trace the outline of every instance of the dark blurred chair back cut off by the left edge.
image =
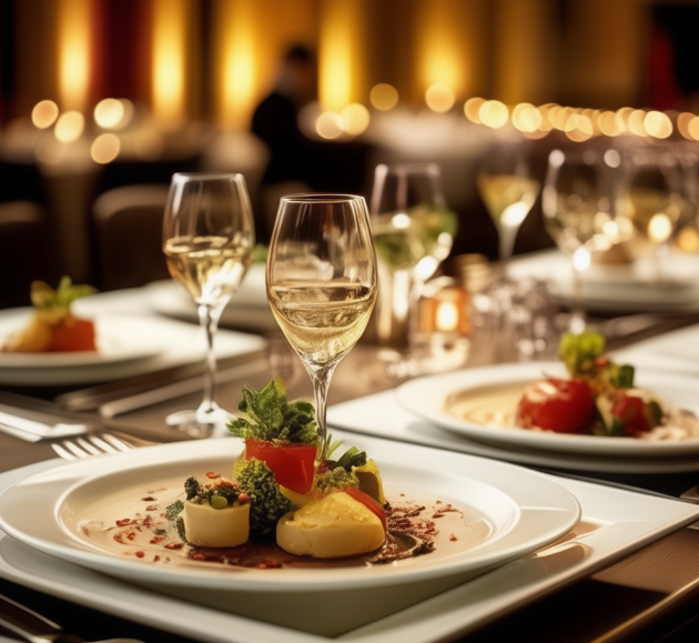
<path id="1" fill-rule="evenodd" d="M 55 287 L 58 248 L 43 208 L 31 201 L 0 203 L 0 308 L 31 305 L 31 282 Z"/>

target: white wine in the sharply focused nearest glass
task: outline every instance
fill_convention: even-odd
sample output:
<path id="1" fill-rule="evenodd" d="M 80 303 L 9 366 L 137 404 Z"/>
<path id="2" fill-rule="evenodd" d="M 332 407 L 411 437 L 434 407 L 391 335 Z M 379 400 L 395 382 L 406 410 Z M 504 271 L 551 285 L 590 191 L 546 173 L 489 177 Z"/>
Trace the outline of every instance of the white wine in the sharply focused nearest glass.
<path id="1" fill-rule="evenodd" d="M 354 283 L 282 282 L 269 289 L 272 312 L 292 346 L 312 364 L 340 361 L 357 342 L 376 290 Z"/>

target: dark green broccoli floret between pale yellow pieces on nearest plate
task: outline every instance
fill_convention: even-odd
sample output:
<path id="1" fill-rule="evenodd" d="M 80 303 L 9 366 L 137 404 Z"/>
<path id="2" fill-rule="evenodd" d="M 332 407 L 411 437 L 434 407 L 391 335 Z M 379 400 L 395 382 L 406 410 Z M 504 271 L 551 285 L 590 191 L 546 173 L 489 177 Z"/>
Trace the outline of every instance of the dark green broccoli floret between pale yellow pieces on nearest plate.
<path id="1" fill-rule="evenodd" d="M 291 511 L 291 501 L 280 492 L 274 473 L 261 460 L 239 459 L 233 468 L 233 476 L 241 490 L 250 495 L 250 539 L 273 540 L 276 523 Z"/>

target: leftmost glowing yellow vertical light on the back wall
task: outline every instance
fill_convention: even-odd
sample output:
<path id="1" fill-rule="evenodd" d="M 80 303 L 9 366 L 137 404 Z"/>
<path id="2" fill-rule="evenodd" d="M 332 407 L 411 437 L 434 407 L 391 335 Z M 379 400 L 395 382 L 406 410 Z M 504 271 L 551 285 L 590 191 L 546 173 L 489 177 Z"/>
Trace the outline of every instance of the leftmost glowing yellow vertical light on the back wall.
<path id="1" fill-rule="evenodd" d="M 91 0 L 59 0 L 59 96 L 63 109 L 85 111 L 90 89 Z"/>

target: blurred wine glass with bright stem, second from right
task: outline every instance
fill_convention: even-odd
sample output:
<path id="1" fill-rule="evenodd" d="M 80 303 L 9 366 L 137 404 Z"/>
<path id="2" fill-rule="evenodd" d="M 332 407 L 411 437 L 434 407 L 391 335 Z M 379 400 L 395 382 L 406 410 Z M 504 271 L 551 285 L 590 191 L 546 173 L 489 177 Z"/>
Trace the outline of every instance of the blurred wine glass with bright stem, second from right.
<path id="1" fill-rule="evenodd" d="M 618 198 L 612 169 L 620 163 L 616 150 L 580 145 L 553 150 L 544 185 L 541 209 L 546 230 L 573 260 L 573 301 L 569 330 L 585 330 L 584 273 L 595 251 L 632 235 L 630 224 L 617 217 Z"/>

